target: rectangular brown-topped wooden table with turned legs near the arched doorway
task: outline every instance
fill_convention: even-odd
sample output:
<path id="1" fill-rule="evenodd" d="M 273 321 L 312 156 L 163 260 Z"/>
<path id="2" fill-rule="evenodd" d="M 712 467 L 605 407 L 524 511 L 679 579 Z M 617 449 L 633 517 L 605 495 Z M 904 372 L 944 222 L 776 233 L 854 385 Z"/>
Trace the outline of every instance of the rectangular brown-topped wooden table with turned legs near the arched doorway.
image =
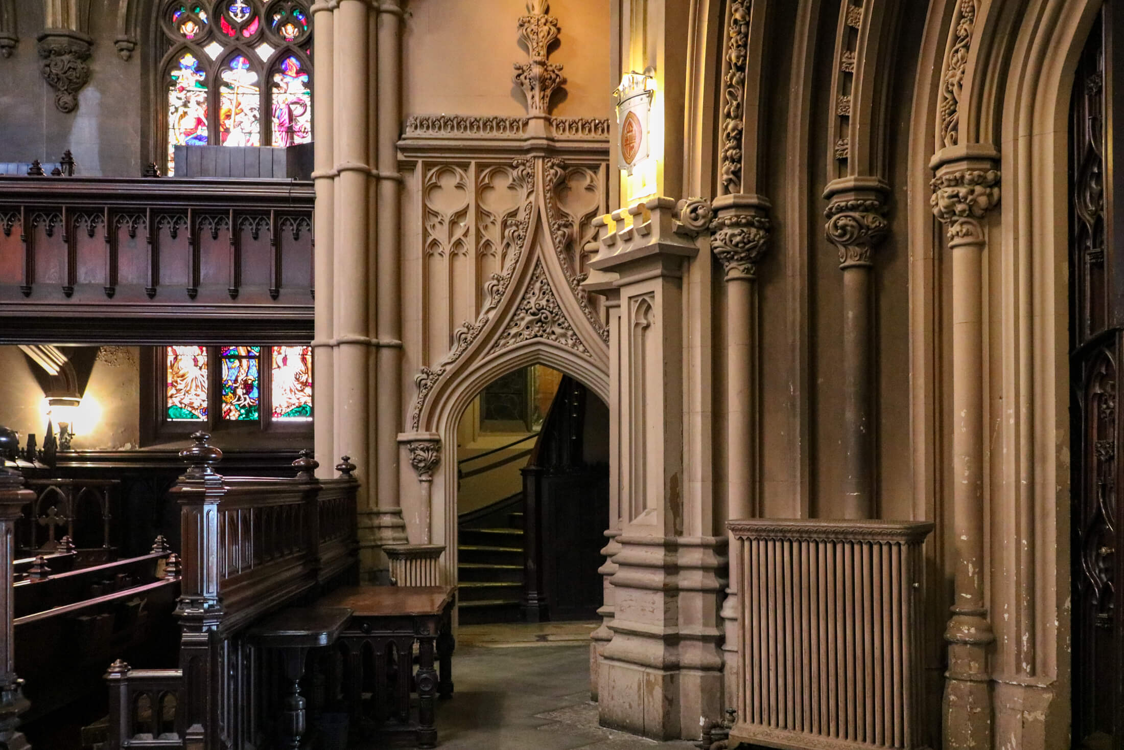
<path id="1" fill-rule="evenodd" d="M 411 734 L 418 748 L 436 747 L 434 697 L 453 694 L 454 593 L 447 586 L 351 586 L 320 599 L 323 606 L 346 607 L 353 613 L 339 635 L 347 661 L 344 695 L 352 726 L 364 734 Z M 434 669 L 435 652 L 439 678 Z M 418 696 L 416 722 L 410 720 L 411 683 Z M 366 712 L 364 692 L 371 693 Z"/>

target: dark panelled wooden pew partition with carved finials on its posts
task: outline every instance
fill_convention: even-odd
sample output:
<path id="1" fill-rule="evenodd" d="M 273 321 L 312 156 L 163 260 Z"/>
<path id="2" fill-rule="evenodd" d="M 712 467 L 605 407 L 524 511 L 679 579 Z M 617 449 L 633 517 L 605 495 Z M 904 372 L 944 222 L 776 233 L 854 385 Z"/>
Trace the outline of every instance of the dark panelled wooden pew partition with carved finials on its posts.
<path id="1" fill-rule="evenodd" d="M 210 435 L 192 439 L 180 454 L 188 469 L 172 489 L 183 550 L 179 669 L 115 662 L 106 675 L 109 750 L 260 747 L 270 722 L 259 705 L 262 658 L 250 627 L 336 581 L 354 582 L 359 482 L 346 458 L 337 479 L 318 480 L 307 451 L 292 479 L 224 478 Z M 153 706 L 169 712 L 160 732 L 152 730 Z"/>

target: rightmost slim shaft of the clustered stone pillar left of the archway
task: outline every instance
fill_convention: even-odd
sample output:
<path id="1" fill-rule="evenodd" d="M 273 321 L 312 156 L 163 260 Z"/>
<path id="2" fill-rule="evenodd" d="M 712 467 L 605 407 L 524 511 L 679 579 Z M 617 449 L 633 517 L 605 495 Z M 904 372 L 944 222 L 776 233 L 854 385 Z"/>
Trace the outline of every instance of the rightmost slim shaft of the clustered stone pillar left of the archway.
<path id="1" fill-rule="evenodd" d="M 398 488 L 398 433 L 402 421 L 401 220 L 402 175 L 398 136 L 402 121 L 402 9 L 400 0 L 379 4 L 378 64 L 378 240 L 379 281 L 375 351 L 375 453 L 378 507 L 372 518 L 377 544 L 406 544 Z"/>

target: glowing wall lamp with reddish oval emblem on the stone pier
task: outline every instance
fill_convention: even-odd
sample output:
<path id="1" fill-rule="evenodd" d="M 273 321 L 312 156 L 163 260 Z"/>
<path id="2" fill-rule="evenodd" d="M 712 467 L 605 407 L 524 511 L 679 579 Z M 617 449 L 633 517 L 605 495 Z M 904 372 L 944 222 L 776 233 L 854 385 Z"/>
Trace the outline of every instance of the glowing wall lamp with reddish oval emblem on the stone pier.
<path id="1" fill-rule="evenodd" d="M 643 73 L 629 71 L 613 92 L 617 109 L 617 166 L 627 175 L 629 201 L 655 193 L 655 160 L 651 148 L 652 100 L 655 76 L 649 67 Z"/>

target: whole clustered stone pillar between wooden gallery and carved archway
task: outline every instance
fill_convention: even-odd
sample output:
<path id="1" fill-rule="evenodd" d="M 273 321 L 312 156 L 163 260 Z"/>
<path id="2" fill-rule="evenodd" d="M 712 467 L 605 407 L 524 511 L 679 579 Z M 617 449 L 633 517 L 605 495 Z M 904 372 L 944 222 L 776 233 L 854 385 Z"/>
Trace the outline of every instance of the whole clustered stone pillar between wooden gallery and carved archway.
<path id="1" fill-rule="evenodd" d="M 397 0 L 319 0 L 316 21 L 316 452 L 355 457 L 364 578 L 404 543 L 401 20 Z M 374 165 L 372 165 L 374 164 Z M 375 282 L 377 280 L 377 282 Z M 327 460 L 320 461 L 327 466 Z"/>

